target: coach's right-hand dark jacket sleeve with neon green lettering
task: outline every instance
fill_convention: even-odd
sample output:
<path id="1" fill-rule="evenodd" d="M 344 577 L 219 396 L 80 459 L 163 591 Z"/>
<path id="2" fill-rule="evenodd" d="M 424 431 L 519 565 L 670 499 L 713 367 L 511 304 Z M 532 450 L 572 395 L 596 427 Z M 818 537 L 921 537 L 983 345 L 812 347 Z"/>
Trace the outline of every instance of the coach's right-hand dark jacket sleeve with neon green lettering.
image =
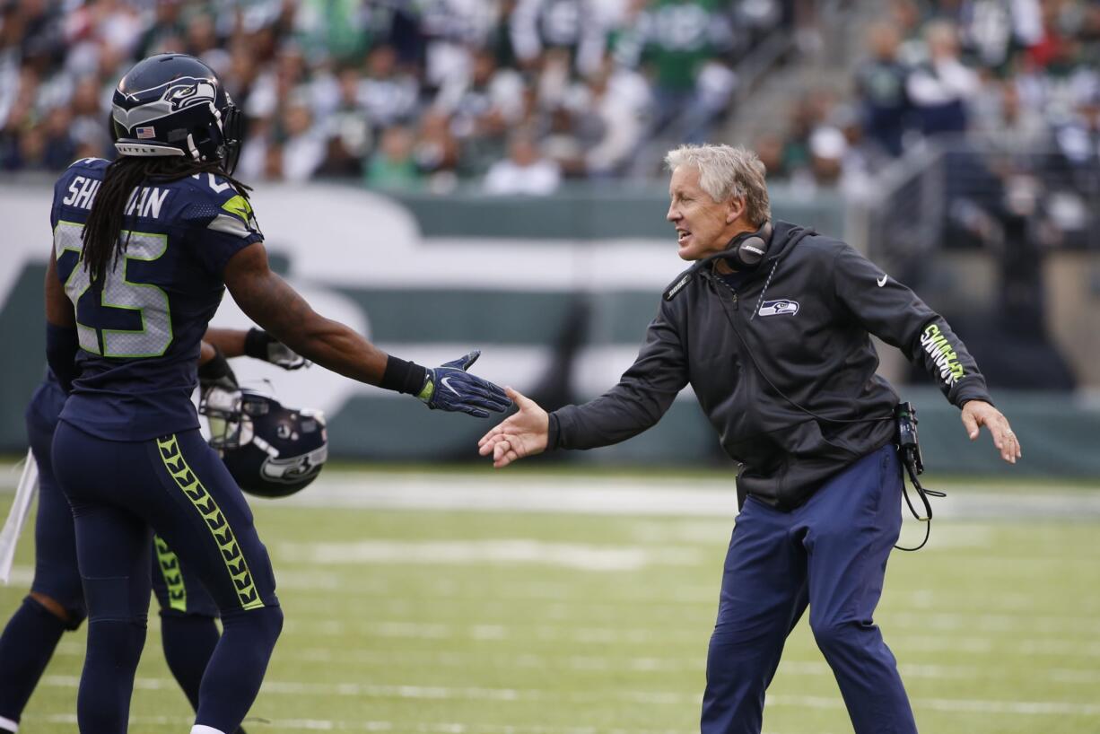
<path id="1" fill-rule="evenodd" d="M 992 403 L 986 379 L 939 314 L 849 245 L 834 261 L 836 297 L 871 333 L 923 366 L 954 405 Z"/>

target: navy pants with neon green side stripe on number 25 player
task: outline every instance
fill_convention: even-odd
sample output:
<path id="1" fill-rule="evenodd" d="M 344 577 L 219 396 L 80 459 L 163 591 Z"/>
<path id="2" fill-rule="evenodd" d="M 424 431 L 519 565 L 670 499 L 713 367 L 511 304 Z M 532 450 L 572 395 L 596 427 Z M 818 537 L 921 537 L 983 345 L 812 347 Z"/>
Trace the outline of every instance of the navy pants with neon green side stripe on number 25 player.
<path id="1" fill-rule="evenodd" d="M 283 615 L 267 550 L 224 464 L 197 429 L 130 442 L 62 421 L 53 467 L 73 506 L 88 605 L 81 732 L 125 731 L 145 638 L 154 530 L 199 578 L 222 618 L 196 724 L 235 731 L 260 690 Z"/>

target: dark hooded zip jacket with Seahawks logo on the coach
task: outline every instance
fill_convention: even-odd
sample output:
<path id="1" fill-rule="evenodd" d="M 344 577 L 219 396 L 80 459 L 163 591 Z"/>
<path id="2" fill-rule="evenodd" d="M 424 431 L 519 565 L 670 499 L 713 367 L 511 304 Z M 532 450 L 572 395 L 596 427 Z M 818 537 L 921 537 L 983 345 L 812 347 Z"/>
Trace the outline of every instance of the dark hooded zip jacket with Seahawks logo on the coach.
<path id="1" fill-rule="evenodd" d="M 894 439 L 898 394 L 875 372 L 872 333 L 924 365 L 953 404 L 991 402 L 966 348 L 912 291 L 844 242 L 777 222 L 763 262 L 736 292 L 710 262 L 681 273 L 619 383 L 550 414 L 548 448 L 636 436 L 691 384 L 741 464 L 738 493 L 798 507 Z"/>

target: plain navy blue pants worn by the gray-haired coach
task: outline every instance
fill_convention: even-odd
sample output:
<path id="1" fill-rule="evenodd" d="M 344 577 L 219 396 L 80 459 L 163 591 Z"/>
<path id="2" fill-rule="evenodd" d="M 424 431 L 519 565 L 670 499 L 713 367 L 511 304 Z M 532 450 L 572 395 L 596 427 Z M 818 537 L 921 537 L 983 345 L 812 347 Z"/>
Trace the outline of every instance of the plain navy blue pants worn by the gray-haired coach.
<path id="1" fill-rule="evenodd" d="M 898 454 L 887 446 L 793 512 L 747 500 L 707 654 L 703 734 L 760 734 L 765 690 L 807 604 L 856 734 L 915 734 L 897 662 L 873 622 L 901 532 L 901 493 Z"/>

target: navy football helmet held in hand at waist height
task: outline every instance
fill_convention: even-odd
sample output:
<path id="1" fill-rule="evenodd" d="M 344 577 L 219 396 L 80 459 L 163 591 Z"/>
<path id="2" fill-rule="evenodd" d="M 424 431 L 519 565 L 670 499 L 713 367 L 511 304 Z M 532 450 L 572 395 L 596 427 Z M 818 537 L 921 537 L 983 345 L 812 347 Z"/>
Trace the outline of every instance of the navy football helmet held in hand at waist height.
<path id="1" fill-rule="evenodd" d="M 305 489 L 329 458 L 320 410 L 285 408 L 251 390 L 211 387 L 199 402 L 210 446 L 249 494 L 285 497 Z"/>

